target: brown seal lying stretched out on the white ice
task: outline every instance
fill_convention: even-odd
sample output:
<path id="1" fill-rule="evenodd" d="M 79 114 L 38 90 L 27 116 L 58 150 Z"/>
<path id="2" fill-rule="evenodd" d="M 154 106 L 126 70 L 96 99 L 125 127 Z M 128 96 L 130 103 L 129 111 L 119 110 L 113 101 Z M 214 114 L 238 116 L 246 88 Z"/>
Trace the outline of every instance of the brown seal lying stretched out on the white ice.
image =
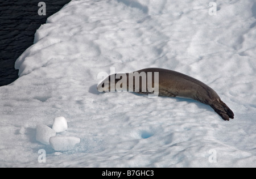
<path id="1" fill-rule="evenodd" d="M 160 69 L 160 68 L 147 68 L 138 71 L 134 71 L 133 73 L 146 73 L 147 77 L 149 73 L 158 73 L 158 95 L 159 96 L 167 96 L 167 97 L 185 97 L 189 99 L 194 99 L 200 101 L 203 104 L 211 106 L 214 111 L 221 116 L 221 118 L 225 121 L 229 121 L 229 118 L 234 118 L 234 113 L 232 110 L 220 99 L 220 96 L 207 84 L 204 84 L 200 80 L 192 78 L 191 76 L 179 73 L 177 71 Z M 122 74 L 128 76 L 131 73 Z M 104 88 L 105 90 L 112 86 L 110 82 L 114 79 L 114 85 L 118 83 L 121 79 L 120 77 L 116 78 L 118 74 L 109 75 L 107 78 L 102 80 L 101 83 L 98 83 L 97 89 L 100 91 L 100 88 Z M 120 75 L 118 75 L 120 76 Z M 154 75 L 153 75 L 154 76 Z M 127 91 L 129 91 L 129 78 L 126 78 L 127 83 Z M 152 78 L 152 83 L 154 83 L 155 78 Z M 147 80 L 148 82 L 148 80 Z M 107 85 L 106 85 L 107 84 Z M 134 83 L 133 83 L 134 84 Z M 122 85 L 121 85 L 122 87 Z M 117 89 L 115 89 L 117 90 Z M 102 91 L 100 91 L 102 92 Z M 148 94 L 152 93 L 146 88 L 146 91 L 142 90 L 142 79 L 139 81 L 139 90 L 135 91 L 135 87 L 133 86 L 133 92 Z"/>

